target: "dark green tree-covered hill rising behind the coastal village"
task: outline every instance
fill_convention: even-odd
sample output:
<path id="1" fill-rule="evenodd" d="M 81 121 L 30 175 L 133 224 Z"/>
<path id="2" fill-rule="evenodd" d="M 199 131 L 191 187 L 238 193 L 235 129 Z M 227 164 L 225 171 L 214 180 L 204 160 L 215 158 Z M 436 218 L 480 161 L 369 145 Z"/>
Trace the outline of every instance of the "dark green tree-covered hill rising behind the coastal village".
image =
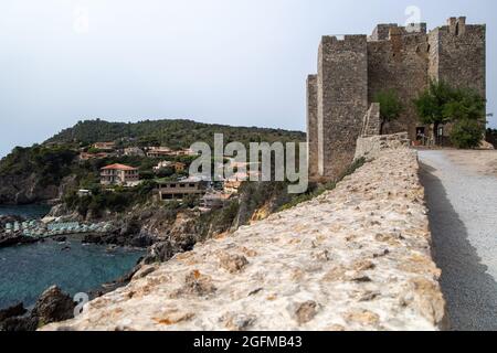
<path id="1" fill-rule="evenodd" d="M 94 149 L 92 145 L 95 142 L 115 142 L 116 150 L 123 150 L 125 147 L 154 146 L 184 149 L 197 141 L 212 146 L 214 133 L 223 133 L 224 143 L 240 141 L 245 145 L 262 141 L 299 142 L 306 138 L 300 131 L 231 127 L 190 120 L 145 120 L 129 124 L 99 119 L 80 121 L 41 145 L 15 147 L 0 160 L 0 204 L 59 199 L 67 194 L 73 195 L 78 188 L 89 189 L 96 195 L 101 168 L 113 163 L 138 168 L 140 179 L 144 181 L 158 176 L 170 179 L 184 176 L 184 175 L 175 172 L 162 175 L 162 170 L 155 173 L 152 168 L 162 160 L 161 158 L 108 153 L 102 158 L 81 160 L 78 156 L 82 152 L 92 152 Z M 193 159 L 180 156 L 170 160 L 189 165 Z M 151 184 L 145 183 L 137 188 L 136 192 L 149 193 L 150 189 Z M 102 203 L 98 205 L 102 206 Z"/>

